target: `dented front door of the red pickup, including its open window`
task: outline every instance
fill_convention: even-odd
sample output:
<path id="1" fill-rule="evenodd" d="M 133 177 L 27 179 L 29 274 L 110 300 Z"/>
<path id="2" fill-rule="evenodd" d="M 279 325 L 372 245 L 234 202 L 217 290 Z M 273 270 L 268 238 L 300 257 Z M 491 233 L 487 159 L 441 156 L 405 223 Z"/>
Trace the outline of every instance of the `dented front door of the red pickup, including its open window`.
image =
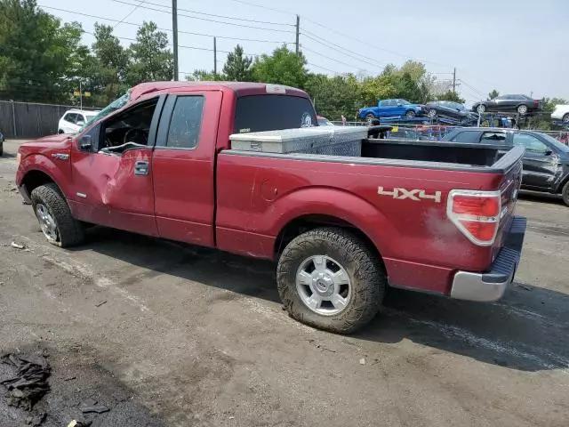
<path id="1" fill-rule="evenodd" d="M 157 236 L 150 160 L 163 104 L 140 101 L 78 138 L 70 194 L 77 219 Z"/>

